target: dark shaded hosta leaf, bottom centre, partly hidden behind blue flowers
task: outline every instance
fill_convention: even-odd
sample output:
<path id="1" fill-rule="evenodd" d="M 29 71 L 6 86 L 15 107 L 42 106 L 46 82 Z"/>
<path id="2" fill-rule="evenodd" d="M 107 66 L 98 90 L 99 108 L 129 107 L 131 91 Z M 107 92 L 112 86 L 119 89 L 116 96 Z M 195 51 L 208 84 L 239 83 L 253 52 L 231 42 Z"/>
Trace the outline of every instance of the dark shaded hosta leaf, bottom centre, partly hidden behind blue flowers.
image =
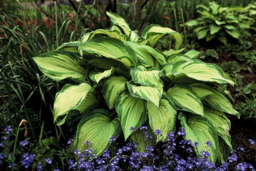
<path id="1" fill-rule="evenodd" d="M 140 153 L 141 152 L 145 153 L 147 146 L 151 146 L 154 148 L 157 145 L 157 142 L 155 141 L 155 139 L 157 139 L 157 137 L 154 134 L 154 131 L 151 129 L 150 125 L 148 124 L 148 121 L 146 121 L 142 126 L 146 126 L 148 129 L 142 129 L 142 130 L 134 129 L 131 136 L 129 137 L 129 140 L 132 143 L 138 144 L 137 151 L 139 151 Z M 147 133 L 153 139 L 151 142 L 149 142 L 146 138 Z"/>

